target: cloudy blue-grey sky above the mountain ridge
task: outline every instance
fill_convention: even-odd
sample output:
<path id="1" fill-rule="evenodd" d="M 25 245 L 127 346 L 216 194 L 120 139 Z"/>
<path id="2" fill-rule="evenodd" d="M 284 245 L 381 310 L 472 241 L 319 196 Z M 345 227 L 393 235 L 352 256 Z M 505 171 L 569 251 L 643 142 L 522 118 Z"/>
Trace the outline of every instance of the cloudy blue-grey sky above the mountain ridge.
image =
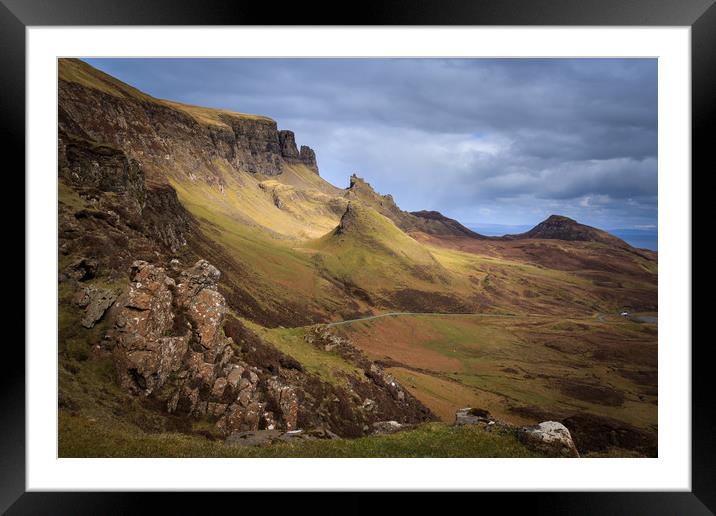
<path id="1" fill-rule="evenodd" d="M 405 210 L 657 226 L 656 59 L 87 59 L 155 97 L 266 115 Z"/>

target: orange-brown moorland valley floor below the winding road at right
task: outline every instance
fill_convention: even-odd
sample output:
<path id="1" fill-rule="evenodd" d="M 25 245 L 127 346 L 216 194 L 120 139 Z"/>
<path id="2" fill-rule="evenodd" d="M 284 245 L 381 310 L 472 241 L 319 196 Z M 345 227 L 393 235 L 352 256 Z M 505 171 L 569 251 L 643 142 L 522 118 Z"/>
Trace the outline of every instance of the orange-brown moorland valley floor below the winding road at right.
<path id="1" fill-rule="evenodd" d="M 605 315 L 385 314 L 332 329 L 443 421 L 477 406 L 514 424 L 588 412 L 656 428 L 656 324 Z"/>

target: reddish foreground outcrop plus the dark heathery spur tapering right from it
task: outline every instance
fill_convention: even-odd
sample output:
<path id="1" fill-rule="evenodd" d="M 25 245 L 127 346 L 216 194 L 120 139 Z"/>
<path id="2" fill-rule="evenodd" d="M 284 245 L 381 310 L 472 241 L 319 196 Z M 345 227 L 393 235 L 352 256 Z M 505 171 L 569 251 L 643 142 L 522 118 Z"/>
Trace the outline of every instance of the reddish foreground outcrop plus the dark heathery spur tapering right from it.
<path id="1" fill-rule="evenodd" d="M 331 349 L 360 364 L 365 378 L 346 378 L 346 388 L 306 373 L 235 319 L 226 324 L 219 278 L 205 260 L 188 268 L 177 260 L 167 268 L 132 264 L 106 339 L 125 390 L 160 400 L 169 413 L 208 418 L 224 435 L 318 429 L 354 437 L 370 433 L 378 421 L 432 418 L 348 342 Z M 316 337 L 330 339 L 320 331 Z"/>

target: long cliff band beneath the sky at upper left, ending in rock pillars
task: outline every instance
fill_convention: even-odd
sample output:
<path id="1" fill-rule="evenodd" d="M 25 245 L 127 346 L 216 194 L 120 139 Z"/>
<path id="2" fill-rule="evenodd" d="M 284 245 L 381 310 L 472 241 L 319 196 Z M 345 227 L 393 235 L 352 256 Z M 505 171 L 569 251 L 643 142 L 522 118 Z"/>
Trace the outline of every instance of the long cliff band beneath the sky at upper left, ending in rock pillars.
<path id="1" fill-rule="evenodd" d="M 285 163 L 304 164 L 318 174 L 313 150 L 303 146 L 299 151 L 294 134 L 279 131 L 269 118 L 161 101 L 127 93 L 126 85 L 125 90 L 87 87 L 77 78 L 81 72 L 98 74 L 81 61 L 60 64 L 65 130 L 123 150 L 153 179 L 183 174 L 221 184 L 222 165 L 275 176 Z"/>

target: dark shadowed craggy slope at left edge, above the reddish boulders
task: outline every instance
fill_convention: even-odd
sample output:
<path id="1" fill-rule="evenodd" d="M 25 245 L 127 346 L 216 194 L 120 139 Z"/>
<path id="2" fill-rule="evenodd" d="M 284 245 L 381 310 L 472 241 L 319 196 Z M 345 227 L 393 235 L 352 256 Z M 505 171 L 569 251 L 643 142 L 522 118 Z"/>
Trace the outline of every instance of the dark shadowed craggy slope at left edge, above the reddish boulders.
<path id="1" fill-rule="evenodd" d="M 90 259 L 107 271 L 156 259 L 185 244 L 192 218 L 167 184 L 151 184 L 115 147 L 61 132 L 59 245 L 64 260 Z"/>

